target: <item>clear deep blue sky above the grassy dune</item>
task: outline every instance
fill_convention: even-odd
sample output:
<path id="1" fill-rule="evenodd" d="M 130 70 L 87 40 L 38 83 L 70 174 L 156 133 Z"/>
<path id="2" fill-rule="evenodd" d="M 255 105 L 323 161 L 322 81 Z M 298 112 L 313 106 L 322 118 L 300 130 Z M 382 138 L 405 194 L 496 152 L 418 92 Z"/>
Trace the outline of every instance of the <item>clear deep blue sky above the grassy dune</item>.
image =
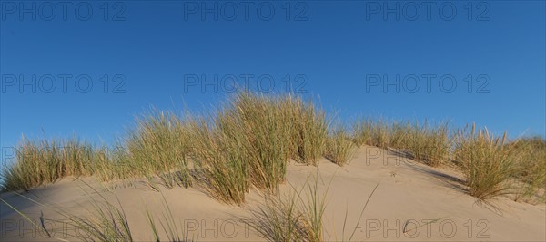
<path id="1" fill-rule="evenodd" d="M 343 119 L 544 136 L 544 2 L 447 3 L 2 1 L 1 145 L 109 143 L 150 105 L 207 110 L 234 77 L 263 92 L 289 80 Z"/>

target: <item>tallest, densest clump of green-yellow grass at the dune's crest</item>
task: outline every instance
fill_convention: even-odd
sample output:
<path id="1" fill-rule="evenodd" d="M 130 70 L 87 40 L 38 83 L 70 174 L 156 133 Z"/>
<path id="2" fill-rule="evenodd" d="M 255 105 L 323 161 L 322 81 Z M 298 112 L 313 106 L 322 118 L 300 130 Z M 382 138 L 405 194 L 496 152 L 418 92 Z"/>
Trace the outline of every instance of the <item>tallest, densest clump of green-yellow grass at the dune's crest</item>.
<path id="1" fill-rule="evenodd" d="M 327 123 L 321 111 L 292 96 L 239 92 L 212 121 L 194 121 L 192 160 L 210 193 L 242 204 L 250 186 L 274 191 L 289 158 L 317 165 Z"/>

